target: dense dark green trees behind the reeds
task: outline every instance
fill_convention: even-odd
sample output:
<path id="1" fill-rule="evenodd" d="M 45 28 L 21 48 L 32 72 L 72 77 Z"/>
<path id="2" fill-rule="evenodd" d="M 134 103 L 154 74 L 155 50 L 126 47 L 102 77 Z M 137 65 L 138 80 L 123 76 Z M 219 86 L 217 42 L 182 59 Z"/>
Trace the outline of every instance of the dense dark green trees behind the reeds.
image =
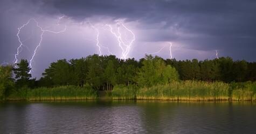
<path id="1" fill-rule="evenodd" d="M 206 83 L 256 80 L 255 62 L 233 61 L 230 57 L 177 61 L 146 55 L 136 61 L 134 58 L 124 60 L 114 55 L 90 55 L 80 59 L 60 59 L 53 62 L 39 80 L 31 79 L 26 59 L 22 59 L 16 66 L 17 68 L 10 65 L 0 67 L 1 98 L 8 96 L 13 89 L 20 88 L 86 85 L 99 91 L 113 90 L 117 85 L 152 87 L 185 80 Z"/>

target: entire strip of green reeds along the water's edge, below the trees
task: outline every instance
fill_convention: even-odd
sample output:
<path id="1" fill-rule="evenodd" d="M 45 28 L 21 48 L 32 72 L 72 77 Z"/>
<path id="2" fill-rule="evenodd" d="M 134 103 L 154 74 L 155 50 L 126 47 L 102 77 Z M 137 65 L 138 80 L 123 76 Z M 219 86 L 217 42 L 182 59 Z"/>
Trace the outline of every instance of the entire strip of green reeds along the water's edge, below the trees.
<path id="1" fill-rule="evenodd" d="M 256 82 L 207 83 L 205 81 L 174 81 L 166 85 L 137 87 L 135 85 L 116 85 L 107 98 L 113 100 L 168 100 L 168 101 L 256 101 Z M 98 91 L 91 86 L 60 86 L 52 88 L 21 89 L 13 92 L 7 101 L 66 101 L 96 100 Z"/>

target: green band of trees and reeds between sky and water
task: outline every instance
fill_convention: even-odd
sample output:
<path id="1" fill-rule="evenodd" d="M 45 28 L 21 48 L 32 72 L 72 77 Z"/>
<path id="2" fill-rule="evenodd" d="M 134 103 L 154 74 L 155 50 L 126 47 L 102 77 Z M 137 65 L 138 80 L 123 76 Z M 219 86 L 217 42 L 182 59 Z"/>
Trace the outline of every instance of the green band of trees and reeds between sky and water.
<path id="1" fill-rule="evenodd" d="M 256 101 L 256 62 L 230 57 L 176 61 L 146 55 L 136 61 L 90 55 L 53 62 L 38 80 L 30 71 L 26 59 L 0 66 L 0 101 Z"/>

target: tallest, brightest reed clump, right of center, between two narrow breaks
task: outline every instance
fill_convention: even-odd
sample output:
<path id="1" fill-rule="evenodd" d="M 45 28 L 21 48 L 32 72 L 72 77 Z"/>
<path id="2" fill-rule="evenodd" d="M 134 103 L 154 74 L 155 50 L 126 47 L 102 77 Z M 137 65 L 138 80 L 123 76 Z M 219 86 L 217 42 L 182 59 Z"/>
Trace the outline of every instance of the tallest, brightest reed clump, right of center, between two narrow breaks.
<path id="1" fill-rule="evenodd" d="M 181 81 L 167 85 L 143 87 L 137 93 L 137 99 L 154 100 L 228 100 L 229 85 L 204 81 Z"/>

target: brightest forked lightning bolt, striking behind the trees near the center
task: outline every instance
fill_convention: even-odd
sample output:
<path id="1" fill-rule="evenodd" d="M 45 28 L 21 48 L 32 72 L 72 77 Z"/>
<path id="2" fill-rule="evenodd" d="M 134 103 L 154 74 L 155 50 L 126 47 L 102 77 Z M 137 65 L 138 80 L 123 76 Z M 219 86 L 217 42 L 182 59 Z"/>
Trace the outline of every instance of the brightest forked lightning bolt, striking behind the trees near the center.
<path id="1" fill-rule="evenodd" d="M 117 25 L 119 25 L 117 27 L 117 33 L 113 31 L 113 27 L 111 25 L 106 24 L 105 26 L 108 26 L 110 28 L 110 32 L 115 36 L 115 38 L 119 42 L 119 47 L 122 49 L 122 57 L 121 58 L 126 59 L 127 55 L 130 52 L 130 47 L 133 45 L 133 42 L 135 41 L 135 34 L 133 33 L 133 31 L 131 31 L 129 28 L 127 28 L 127 26 L 123 25 L 120 21 L 117 22 Z M 122 34 L 120 32 L 121 26 L 133 35 L 132 40 L 128 44 L 124 43 L 124 41 L 122 39 Z M 126 50 L 124 50 L 123 46 L 126 47 Z"/>

